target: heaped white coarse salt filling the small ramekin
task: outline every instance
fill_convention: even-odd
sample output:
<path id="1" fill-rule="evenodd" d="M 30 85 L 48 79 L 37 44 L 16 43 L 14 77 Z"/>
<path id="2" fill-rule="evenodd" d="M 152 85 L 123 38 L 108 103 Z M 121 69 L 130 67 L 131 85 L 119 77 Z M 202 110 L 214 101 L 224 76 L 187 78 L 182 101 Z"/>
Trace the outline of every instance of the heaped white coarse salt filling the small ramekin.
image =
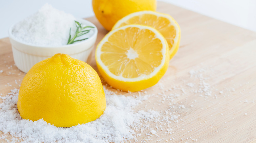
<path id="1" fill-rule="evenodd" d="M 45 4 L 35 14 L 15 24 L 12 28 L 12 35 L 16 39 L 29 44 L 41 46 L 66 45 L 70 28 L 71 37 L 75 34 L 75 20 L 80 22 L 73 15 Z M 90 30 L 89 33 L 76 40 L 88 38 L 92 35 L 93 30 Z"/>

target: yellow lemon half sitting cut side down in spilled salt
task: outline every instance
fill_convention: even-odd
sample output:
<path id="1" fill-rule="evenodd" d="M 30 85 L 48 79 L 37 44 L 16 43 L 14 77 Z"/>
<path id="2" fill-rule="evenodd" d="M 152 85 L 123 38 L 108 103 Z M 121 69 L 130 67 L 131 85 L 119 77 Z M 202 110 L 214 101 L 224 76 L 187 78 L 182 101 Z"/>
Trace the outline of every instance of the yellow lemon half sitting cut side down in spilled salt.
<path id="1" fill-rule="evenodd" d="M 101 80 L 90 65 L 55 54 L 26 74 L 17 106 L 23 119 L 44 119 L 56 127 L 71 127 L 99 118 L 106 98 Z"/>

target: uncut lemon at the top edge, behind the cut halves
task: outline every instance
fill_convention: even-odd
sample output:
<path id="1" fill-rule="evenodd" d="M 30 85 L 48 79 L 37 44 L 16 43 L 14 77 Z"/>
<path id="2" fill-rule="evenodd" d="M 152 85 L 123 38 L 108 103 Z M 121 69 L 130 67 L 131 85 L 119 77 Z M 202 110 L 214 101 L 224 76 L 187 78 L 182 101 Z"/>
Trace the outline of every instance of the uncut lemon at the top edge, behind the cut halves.
<path id="1" fill-rule="evenodd" d="M 156 0 L 93 0 L 93 11 L 100 24 L 110 31 L 124 16 L 142 10 L 156 11 Z"/>

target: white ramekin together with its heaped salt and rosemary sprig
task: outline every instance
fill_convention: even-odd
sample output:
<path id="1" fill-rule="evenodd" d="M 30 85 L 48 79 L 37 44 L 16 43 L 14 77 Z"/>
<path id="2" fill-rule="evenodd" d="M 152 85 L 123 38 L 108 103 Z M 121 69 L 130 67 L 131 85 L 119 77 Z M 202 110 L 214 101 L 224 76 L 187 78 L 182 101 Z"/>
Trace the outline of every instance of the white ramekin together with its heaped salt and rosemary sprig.
<path id="1" fill-rule="evenodd" d="M 27 73 L 57 53 L 87 62 L 97 38 L 96 26 L 45 4 L 9 29 L 15 65 Z"/>

